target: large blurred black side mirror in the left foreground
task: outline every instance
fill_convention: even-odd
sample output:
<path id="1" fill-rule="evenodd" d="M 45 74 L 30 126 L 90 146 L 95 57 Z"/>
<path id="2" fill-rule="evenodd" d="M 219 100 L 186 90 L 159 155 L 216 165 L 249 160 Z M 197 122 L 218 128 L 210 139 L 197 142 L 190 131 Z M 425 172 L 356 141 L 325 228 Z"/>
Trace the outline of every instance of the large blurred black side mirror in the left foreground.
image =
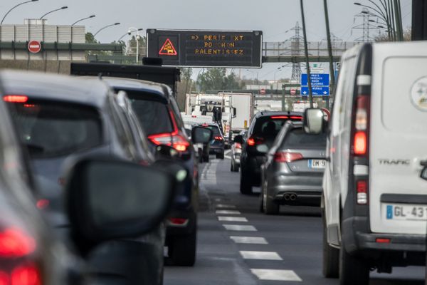
<path id="1" fill-rule="evenodd" d="M 65 185 L 75 245 L 87 254 L 103 241 L 152 231 L 169 212 L 176 181 L 159 167 L 110 157 L 78 161 Z"/>

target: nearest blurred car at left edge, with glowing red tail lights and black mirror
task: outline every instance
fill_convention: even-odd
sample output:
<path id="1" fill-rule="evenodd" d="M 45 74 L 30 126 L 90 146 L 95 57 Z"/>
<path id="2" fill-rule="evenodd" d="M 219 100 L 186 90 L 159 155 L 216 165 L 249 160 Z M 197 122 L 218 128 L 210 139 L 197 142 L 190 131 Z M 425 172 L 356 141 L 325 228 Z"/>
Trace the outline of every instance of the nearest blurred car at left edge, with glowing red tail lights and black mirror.
<path id="1" fill-rule="evenodd" d="M 21 78 L 33 76 L 19 74 Z M 1 89 L 0 82 L 4 101 L 20 100 L 26 108 L 34 108 L 24 93 L 3 93 Z M 70 231 L 64 239 L 57 239 L 40 211 L 46 203 L 38 196 L 26 150 L 16 138 L 3 100 L 0 119 L 0 283 L 115 284 L 118 276 L 110 276 L 106 282 L 83 259 L 90 259 L 95 248 L 111 239 L 142 236 L 158 227 L 172 202 L 174 176 L 110 156 L 75 161 L 63 176 Z M 125 189 L 117 187 L 123 184 L 127 185 Z M 121 260 L 112 261 L 122 266 Z"/>

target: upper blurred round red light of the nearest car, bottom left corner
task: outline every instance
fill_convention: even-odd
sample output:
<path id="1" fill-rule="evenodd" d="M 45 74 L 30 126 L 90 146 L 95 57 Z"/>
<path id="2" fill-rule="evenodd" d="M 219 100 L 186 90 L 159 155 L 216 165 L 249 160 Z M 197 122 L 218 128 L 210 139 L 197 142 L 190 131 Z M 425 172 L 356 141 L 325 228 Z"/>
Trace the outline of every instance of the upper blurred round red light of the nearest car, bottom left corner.
<path id="1" fill-rule="evenodd" d="M 36 242 L 20 229 L 14 227 L 0 232 L 0 257 L 16 258 L 31 254 Z"/>

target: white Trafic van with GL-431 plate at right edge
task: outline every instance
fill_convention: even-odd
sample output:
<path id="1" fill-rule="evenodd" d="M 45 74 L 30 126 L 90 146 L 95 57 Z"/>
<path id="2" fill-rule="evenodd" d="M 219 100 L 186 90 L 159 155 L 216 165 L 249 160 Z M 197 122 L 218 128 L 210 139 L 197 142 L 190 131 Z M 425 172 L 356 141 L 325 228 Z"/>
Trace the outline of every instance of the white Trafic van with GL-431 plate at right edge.
<path id="1" fill-rule="evenodd" d="M 363 285 L 370 270 L 424 265 L 427 42 L 344 53 L 329 131 L 323 274 Z"/>

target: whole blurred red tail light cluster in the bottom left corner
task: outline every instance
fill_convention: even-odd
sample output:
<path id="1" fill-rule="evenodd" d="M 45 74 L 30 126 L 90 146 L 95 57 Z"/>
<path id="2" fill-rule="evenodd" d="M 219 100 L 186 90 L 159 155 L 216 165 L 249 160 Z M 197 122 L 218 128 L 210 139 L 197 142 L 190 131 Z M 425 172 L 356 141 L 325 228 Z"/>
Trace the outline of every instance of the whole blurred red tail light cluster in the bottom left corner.
<path id="1" fill-rule="evenodd" d="M 35 250 L 36 241 L 20 229 L 10 227 L 0 232 L 1 262 L 11 264 L 10 270 L 2 266 L 0 285 L 41 285 L 38 266 L 28 260 Z"/>

